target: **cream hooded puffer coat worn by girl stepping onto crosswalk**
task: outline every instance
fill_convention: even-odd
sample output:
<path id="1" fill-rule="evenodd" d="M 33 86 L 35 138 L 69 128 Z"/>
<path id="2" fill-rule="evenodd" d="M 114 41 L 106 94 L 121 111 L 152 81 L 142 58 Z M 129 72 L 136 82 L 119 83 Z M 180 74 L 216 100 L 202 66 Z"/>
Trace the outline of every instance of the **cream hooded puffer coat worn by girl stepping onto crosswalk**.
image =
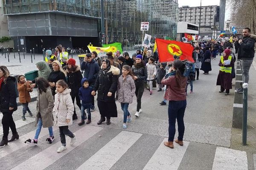
<path id="1" fill-rule="evenodd" d="M 68 126 L 72 125 L 72 116 L 74 114 L 74 105 L 70 96 L 71 90 L 66 88 L 62 93 L 55 94 L 55 102 L 53 108 L 54 125 Z M 66 119 L 70 122 L 67 123 Z"/>

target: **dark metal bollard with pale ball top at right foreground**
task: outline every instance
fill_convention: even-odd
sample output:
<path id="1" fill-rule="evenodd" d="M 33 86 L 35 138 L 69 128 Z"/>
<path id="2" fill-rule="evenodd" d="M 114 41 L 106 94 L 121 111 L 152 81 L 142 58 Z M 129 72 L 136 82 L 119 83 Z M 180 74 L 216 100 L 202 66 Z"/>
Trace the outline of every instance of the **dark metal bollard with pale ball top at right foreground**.
<path id="1" fill-rule="evenodd" d="M 247 94 L 248 94 L 248 83 L 243 84 L 243 128 L 242 128 L 242 138 L 243 145 L 247 144 Z"/>

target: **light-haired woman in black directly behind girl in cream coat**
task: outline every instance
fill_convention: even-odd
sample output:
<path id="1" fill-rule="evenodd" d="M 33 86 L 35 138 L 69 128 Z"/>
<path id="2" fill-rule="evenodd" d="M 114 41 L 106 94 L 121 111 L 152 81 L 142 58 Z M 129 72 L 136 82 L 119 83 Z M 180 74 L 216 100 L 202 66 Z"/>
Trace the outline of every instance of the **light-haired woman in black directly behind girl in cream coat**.
<path id="1" fill-rule="evenodd" d="M 52 62 L 52 68 L 53 71 L 50 73 L 48 81 L 49 81 L 49 85 L 51 86 L 51 90 L 52 90 L 52 96 L 54 97 L 55 90 L 56 90 L 56 82 L 58 82 L 58 80 L 63 79 L 65 82 L 67 82 L 66 80 L 66 75 L 64 74 L 63 69 L 61 68 L 61 63 L 58 60 L 55 60 Z"/>

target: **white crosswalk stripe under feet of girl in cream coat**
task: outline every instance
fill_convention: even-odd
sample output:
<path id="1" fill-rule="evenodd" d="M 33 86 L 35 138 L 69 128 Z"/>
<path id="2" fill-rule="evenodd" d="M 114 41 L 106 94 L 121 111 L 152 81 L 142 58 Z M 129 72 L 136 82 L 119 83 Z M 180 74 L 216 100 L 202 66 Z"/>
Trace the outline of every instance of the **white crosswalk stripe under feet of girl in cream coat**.
<path id="1" fill-rule="evenodd" d="M 100 130 L 102 130 L 102 127 L 85 126 L 75 132 L 77 136 L 76 143 L 72 147 L 68 146 L 70 138 L 67 138 L 67 150 L 64 150 L 62 153 L 56 152 L 58 147 L 61 146 L 61 144 L 58 142 L 56 144 L 51 145 L 46 150 L 38 153 L 37 155 L 32 156 L 30 159 L 24 161 L 18 166 L 12 168 L 12 170 L 43 170 L 50 164 L 53 164 L 55 161 L 60 159 L 62 156 L 65 156 L 71 150 L 75 149 L 81 143 L 85 142 L 87 139 L 95 135 L 95 133 L 99 132 Z"/>

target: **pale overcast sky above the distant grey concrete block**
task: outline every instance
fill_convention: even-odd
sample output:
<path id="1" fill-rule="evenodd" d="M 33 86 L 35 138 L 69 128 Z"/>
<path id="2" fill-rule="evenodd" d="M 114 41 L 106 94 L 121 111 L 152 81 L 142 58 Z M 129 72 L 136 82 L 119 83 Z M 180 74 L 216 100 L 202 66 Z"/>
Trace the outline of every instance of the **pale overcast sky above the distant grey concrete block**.
<path id="1" fill-rule="evenodd" d="M 200 0 L 178 0 L 179 7 L 181 6 L 200 6 Z M 212 5 L 220 5 L 220 0 L 202 0 L 202 6 L 212 6 Z M 227 2 L 226 2 L 226 14 L 225 14 L 225 20 L 229 19 L 230 12 L 227 8 Z"/>

